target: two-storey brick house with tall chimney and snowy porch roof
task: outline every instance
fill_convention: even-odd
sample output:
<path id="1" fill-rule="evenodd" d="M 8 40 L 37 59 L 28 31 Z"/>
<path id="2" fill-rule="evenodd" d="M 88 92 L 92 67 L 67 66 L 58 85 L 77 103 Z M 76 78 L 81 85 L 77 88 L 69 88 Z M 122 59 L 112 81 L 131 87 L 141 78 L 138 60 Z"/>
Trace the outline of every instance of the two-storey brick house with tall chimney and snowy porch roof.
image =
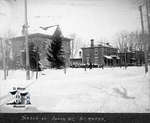
<path id="1" fill-rule="evenodd" d="M 112 47 L 109 43 L 94 45 L 91 40 L 90 47 L 82 48 L 82 63 L 93 65 L 117 65 L 119 64 L 118 49 Z"/>

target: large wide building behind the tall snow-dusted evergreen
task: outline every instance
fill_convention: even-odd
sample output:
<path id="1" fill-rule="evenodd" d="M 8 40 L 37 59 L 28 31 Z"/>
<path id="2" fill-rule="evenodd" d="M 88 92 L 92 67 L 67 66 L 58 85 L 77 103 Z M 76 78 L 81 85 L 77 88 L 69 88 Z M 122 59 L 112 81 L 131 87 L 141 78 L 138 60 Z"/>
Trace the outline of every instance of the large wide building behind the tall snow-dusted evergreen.
<path id="1" fill-rule="evenodd" d="M 56 31 L 54 34 L 57 33 Z M 12 45 L 12 54 L 14 59 L 18 59 L 17 62 L 23 63 L 22 60 L 22 52 L 25 50 L 25 37 L 24 36 L 19 36 L 19 37 L 14 37 L 11 40 L 11 45 Z M 51 35 L 46 35 L 46 34 L 41 34 L 41 33 L 35 33 L 35 34 L 30 34 L 28 35 L 28 41 L 33 42 L 35 46 L 39 47 L 40 51 L 40 62 L 44 66 L 49 66 L 49 62 L 47 60 L 47 48 L 48 45 L 52 41 L 52 36 Z M 71 39 L 62 37 L 62 47 L 65 52 L 65 58 L 66 58 L 66 65 L 69 66 L 70 64 L 70 41 Z M 14 63 L 18 64 L 18 63 Z"/>

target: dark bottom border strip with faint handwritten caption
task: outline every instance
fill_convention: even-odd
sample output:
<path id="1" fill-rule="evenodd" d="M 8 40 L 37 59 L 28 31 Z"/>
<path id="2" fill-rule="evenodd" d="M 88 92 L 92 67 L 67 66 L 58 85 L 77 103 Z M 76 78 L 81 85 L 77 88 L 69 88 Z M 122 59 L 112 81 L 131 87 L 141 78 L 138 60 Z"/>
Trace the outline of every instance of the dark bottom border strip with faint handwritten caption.
<path id="1" fill-rule="evenodd" d="M 148 123 L 150 113 L 1 113 L 0 123 Z"/>

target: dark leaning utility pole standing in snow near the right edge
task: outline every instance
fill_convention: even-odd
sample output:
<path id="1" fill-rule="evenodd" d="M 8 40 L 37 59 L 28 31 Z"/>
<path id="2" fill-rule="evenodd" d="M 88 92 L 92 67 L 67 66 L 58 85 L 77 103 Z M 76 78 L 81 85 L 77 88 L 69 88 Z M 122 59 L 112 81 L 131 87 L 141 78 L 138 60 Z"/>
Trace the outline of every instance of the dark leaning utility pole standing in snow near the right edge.
<path id="1" fill-rule="evenodd" d="M 141 17 L 141 29 L 142 29 L 142 41 L 144 41 L 144 56 L 145 56 L 145 73 L 148 72 L 148 64 L 147 64 L 147 43 L 146 40 L 144 39 L 144 23 L 143 23 L 143 12 L 142 12 L 142 6 L 139 6 L 139 11 L 140 11 L 140 17 Z"/>

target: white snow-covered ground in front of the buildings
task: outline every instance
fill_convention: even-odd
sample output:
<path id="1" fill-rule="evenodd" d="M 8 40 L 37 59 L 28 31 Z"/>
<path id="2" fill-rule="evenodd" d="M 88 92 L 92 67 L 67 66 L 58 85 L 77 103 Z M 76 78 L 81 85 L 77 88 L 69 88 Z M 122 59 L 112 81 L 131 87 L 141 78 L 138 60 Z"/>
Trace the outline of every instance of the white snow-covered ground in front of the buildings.
<path id="1" fill-rule="evenodd" d="M 0 71 L 0 112 L 150 112 L 150 72 L 144 67 L 68 68 L 45 70 L 36 80 L 25 80 L 25 71 Z M 5 105 L 14 86 L 27 87 L 31 106 L 15 109 Z M 9 98 L 8 98 L 9 97 Z"/>

